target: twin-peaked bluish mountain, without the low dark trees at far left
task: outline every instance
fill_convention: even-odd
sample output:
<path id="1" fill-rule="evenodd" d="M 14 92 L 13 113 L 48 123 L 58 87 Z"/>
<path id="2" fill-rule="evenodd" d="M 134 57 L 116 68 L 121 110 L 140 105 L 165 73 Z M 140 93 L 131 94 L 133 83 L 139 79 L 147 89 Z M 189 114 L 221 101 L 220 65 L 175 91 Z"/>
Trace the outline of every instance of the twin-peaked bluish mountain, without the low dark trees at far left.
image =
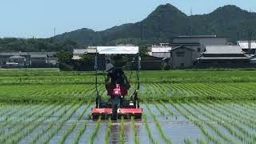
<path id="1" fill-rule="evenodd" d="M 248 30 L 256 31 L 256 14 L 237 6 L 222 6 L 210 14 L 187 16 L 176 7 L 158 6 L 141 22 L 114 26 L 107 30 L 74 30 L 54 37 L 55 41 L 71 39 L 86 45 L 113 45 L 116 43 L 138 44 L 143 42 L 168 42 L 177 35 L 217 34 L 235 42 L 238 37 L 248 39 Z"/>

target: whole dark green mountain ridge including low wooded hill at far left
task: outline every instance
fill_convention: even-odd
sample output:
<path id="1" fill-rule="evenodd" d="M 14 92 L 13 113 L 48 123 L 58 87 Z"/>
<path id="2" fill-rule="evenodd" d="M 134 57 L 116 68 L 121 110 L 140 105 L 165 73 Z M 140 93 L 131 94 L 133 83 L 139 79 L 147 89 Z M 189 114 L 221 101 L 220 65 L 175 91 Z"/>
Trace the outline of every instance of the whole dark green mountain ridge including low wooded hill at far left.
<path id="1" fill-rule="evenodd" d="M 210 14 L 187 16 L 176 7 L 158 6 L 141 22 L 114 26 L 107 30 L 80 29 L 59 34 L 53 38 L 0 38 L 0 51 L 59 51 L 83 46 L 114 45 L 119 43 L 158 44 L 169 42 L 177 35 L 206 35 L 248 40 L 248 30 L 256 34 L 256 13 L 237 6 L 222 6 Z M 256 35 L 253 35 L 255 38 Z M 142 38 L 142 40 L 141 40 Z"/>

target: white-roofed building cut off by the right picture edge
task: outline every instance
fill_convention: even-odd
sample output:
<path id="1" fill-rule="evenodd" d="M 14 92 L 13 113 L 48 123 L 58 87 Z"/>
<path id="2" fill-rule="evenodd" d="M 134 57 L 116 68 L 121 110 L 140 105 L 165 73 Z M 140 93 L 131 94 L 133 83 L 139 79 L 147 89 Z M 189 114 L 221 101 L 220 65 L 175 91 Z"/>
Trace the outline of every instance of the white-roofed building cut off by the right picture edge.
<path id="1" fill-rule="evenodd" d="M 256 41 L 238 41 L 237 44 L 246 54 L 256 54 Z"/>

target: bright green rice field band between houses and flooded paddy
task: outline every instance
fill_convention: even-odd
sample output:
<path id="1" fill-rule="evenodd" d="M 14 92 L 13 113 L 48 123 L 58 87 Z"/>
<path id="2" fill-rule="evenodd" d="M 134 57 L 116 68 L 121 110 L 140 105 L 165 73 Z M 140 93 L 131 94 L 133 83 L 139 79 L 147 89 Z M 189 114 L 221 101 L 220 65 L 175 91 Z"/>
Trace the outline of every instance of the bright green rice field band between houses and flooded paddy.
<path id="1" fill-rule="evenodd" d="M 94 101 L 94 72 L 0 69 L 0 75 L 0 102 Z M 168 107 L 163 102 L 169 100 L 256 99 L 254 70 L 141 71 L 140 75 L 140 100 L 162 101 L 159 104 L 165 109 Z M 98 90 L 102 98 L 107 99 L 104 78 L 104 74 L 98 76 Z M 137 85 L 135 74 L 131 75 L 130 85 L 129 94 L 132 94 Z M 167 112 L 162 114 L 173 114 L 171 110 Z M 82 116 L 79 114 L 79 118 Z"/>

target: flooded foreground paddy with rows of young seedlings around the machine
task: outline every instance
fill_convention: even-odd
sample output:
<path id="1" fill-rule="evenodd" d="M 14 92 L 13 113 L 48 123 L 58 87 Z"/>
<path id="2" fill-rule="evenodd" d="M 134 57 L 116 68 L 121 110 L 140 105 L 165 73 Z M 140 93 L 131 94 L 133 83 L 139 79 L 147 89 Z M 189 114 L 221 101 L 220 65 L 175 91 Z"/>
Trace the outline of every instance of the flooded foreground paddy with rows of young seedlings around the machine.
<path id="1" fill-rule="evenodd" d="M 254 106 L 253 103 L 249 105 Z M 214 104 L 154 102 L 141 105 L 145 117 L 135 119 L 134 126 L 130 119 L 124 120 L 124 137 L 121 138 L 121 120 L 112 120 L 111 125 L 108 119 L 94 121 L 90 119 L 93 106 L 86 103 L 21 104 L 13 108 L 3 105 L 0 110 L 0 141 L 20 144 L 134 143 L 137 138 L 140 143 L 169 143 L 169 140 L 173 143 L 197 143 L 198 139 L 214 143 L 242 142 L 241 138 L 255 134 L 255 126 L 250 126 L 250 122 L 232 125 L 231 122 L 238 120 L 240 114 L 234 114 L 234 118 L 228 117 L 227 111 L 231 113 L 232 110 L 228 105 L 218 104 L 213 107 Z M 226 106 L 226 111 L 221 111 L 222 106 Z M 243 104 L 235 106 L 242 107 Z M 249 108 L 247 105 L 243 107 Z M 251 109 L 254 110 L 253 107 Z M 253 114 L 247 115 L 248 118 L 254 118 Z M 223 118 L 223 122 L 218 117 Z M 110 134 L 106 136 L 108 127 Z M 250 142 L 250 139 L 246 142 Z"/>

